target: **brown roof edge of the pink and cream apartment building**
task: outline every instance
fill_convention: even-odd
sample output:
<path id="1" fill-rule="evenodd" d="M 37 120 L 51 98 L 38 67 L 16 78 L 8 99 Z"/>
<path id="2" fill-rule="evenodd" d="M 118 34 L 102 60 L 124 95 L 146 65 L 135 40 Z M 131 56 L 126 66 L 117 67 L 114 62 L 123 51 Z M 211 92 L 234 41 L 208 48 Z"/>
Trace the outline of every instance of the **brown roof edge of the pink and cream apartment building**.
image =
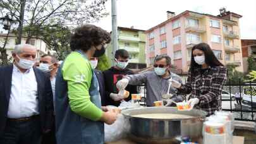
<path id="1" fill-rule="evenodd" d="M 186 13 L 195 13 L 195 14 L 198 14 L 198 15 L 205 15 L 205 16 L 210 16 L 210 17 L 213 17 L 213 18 L 218 18 L 218 19 L 226 20 L 225 18 L 222 18 L 221 16 L 214 16 L 214 15 L 209 15 L 209 14 L 206 14 L 206 13 L 198 13 L 198 12 L 195 12 L 195 11 L 188 11 L 188 10 L 186 10 L 186 11 L 183 11 L 182 13 L 180 13 L 179 15 L 173 16 L 173 18 L 169 18 L 168 20 L 163 21 L 162 23 L 160 23 L 159 25 L 156 25 L 155 27 L 149 28 L 149 30 L 146 30 L 145 33 L 148 33 L 148 32 L 154 30 L 157 27 L 161 27 L 162 25 L 164 25 L 166 23 L 169 23 L 169 21 L 173 21 L 176 18 L 180 17 L 181 15 L 185 15 Z M 235 13 L 233 13 L 233 14 L 235 14 Z M 238 14 L 236 14 L 236 15 L 238 15 Z M 233 21 L 233 20 L 228 20 L 228 21 Z M 233 22 L 237 22 L 237 21 L 233 21 Z"/>

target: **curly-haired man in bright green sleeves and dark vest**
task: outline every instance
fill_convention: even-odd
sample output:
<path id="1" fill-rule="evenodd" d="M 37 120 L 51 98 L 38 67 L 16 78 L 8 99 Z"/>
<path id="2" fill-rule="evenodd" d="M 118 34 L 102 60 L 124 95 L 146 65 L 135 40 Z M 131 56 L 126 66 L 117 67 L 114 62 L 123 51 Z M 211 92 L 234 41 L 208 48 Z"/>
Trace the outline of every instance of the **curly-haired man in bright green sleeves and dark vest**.
<path id="1" fill-rule="evenodd" d="M 56 77 L 56 140 L 61 144 L 104 143 L 104 123 L 117 113 L 101 107 L 99 83 L 91 57 L 102 56 L 111 37 L 106 30 L 83 25 L 71 37 L 71 54 Z"/>

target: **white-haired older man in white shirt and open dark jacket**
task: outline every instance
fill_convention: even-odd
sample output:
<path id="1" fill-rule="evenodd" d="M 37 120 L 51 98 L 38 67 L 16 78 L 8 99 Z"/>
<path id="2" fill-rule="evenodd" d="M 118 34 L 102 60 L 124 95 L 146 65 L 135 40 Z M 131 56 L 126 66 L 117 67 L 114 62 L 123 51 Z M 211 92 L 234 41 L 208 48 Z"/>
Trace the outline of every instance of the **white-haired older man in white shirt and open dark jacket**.
<path id="1" fill-rule="evenodd" d="M 49 76 L 33 68 L 33 45 L 15 46 L 11 66 L 0 68 L 0 143 L 39 144 L 52 124 Z"/>

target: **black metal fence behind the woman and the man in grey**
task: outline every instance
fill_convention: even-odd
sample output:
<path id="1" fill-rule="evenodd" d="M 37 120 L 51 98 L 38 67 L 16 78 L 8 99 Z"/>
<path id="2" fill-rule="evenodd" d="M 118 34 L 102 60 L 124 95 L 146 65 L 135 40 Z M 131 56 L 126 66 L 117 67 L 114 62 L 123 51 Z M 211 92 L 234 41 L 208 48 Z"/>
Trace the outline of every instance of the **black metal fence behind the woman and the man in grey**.
<path id="1" fill-rule="evenodd" d="M 143 93 L 142 100 L 140 100 L 140 105 L 147 105 L 146 89 L 146 84 L 137 85 L 138 92 Z M 222 111 L 233 112 L 235 119 L 239 121 L 255 121 L 256 83 L 240 81 L 238 84 L 232 84 L 230 80 L 228 80 L 223 89 L 229 93 L 229 99 L 224 99 L 224 97 L 221 96 L 222 107 L 224 104 L 229 104 L 229 106 L 228 108 L 222 109 Z M 235 93 L 239 93 L 239 97 L 236 97 L 238 100 L 234 100 Z M 245 100 L 245 97 L 247 97 L 247 100 Z"/>

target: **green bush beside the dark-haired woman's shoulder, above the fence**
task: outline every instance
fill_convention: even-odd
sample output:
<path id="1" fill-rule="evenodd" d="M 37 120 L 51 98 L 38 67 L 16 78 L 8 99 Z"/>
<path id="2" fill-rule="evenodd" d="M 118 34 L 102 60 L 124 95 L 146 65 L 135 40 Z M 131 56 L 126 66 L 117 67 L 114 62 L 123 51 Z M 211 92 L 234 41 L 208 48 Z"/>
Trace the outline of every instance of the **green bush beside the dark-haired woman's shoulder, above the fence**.
<path id="1" fill-rule="evenodd" d="M 237 71 L 235 69 L 236 67 L 237 66 L 233 64 L 227 65 L 228 80 L 226 81 L 226 83 L 239 84 L 239 81 L 242 82 L 244 80 L 243 73 L 241 73 L 240 71 Z"/>

